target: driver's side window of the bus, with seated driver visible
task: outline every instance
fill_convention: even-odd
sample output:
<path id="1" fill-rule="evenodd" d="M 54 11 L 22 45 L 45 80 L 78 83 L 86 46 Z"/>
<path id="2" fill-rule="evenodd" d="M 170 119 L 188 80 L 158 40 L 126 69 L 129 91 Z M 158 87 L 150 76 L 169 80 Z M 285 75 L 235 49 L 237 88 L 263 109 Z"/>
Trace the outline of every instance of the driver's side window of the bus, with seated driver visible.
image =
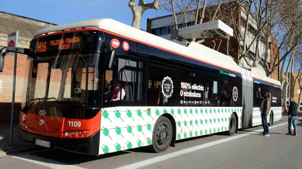
<path id="1" fill-rule="evenodd" d="M 144 68 L 143 61 L 126 55 L 117 55 L 112 70 L 105 71 L 104 102 L 109 105 L 112 103 L 114 106 L 141 105 L 144 101 Z"/>

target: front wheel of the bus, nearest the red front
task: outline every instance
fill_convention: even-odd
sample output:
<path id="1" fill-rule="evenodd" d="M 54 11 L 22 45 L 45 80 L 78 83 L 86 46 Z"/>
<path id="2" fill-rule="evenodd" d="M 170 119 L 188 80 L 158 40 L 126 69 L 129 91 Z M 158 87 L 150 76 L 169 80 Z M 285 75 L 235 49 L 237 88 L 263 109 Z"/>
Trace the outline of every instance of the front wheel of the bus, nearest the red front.
<path id="1" fill-rule="evenodd" d="M 153 128 L 152 145 L 150 150 L 153 152 L 164 152 L 172 141 L 172 124 L 169 118 L 160 116 Z"/>

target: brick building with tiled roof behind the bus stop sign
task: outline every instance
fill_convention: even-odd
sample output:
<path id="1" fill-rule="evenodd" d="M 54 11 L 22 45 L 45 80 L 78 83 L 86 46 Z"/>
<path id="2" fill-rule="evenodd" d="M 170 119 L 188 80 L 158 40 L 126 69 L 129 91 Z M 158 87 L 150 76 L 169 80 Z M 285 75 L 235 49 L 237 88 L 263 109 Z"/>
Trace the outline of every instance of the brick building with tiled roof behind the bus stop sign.
<path id="1" fill-rule="evenodd" d="M 8 33 L 16 31 L 19 32 L 18 47 L 29 48 L 34 33 L 52 25 L 56 24 L 0 11 L 0 48 L 7 46 Z M 15 120 L 18 120 L 19 111 L 26 102 L 30 63 L 30 58 L 27 55 L 18 54 L 14 107 Z M 0 123 L 11 121 L 13 74 L 14 56 L 7 55 L 4 59 L 3 72 L 0 72 Z"/>

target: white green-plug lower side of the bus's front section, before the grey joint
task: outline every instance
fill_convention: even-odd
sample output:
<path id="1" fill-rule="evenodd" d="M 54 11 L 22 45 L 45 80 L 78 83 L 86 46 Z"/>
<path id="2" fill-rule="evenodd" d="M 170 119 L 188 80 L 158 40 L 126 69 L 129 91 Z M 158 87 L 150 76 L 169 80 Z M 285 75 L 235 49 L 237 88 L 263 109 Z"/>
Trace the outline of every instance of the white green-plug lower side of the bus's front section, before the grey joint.
<path id="1" fill-rule="evenodd" d="M 99 154 L 151 145 L 154 124 L 164 113 L 175 119 L 176 140 L 180 140 L 227 131 L 233 112 L 236 112 L 238 128 L 241 128 L 242 107 L 104 108 Z"/>

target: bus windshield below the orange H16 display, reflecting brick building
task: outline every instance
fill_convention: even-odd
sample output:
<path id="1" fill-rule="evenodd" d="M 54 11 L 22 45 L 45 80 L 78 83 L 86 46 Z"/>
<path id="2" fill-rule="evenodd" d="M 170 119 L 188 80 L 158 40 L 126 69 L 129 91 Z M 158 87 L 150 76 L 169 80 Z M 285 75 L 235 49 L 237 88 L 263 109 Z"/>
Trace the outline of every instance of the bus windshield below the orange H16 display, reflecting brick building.
<path id="1" fill-rule="evenodd" d="M 27 103 L 31 106 L 46 101 L 96 103 L 98 69 L 93 66 L 93 54 L 60 54 L 57 62 L 37 63 L 29 78 Z M 50 56 L 56 58 L 56 56 Z M 37 100 L 35 100 L 37 99 Z"/>

